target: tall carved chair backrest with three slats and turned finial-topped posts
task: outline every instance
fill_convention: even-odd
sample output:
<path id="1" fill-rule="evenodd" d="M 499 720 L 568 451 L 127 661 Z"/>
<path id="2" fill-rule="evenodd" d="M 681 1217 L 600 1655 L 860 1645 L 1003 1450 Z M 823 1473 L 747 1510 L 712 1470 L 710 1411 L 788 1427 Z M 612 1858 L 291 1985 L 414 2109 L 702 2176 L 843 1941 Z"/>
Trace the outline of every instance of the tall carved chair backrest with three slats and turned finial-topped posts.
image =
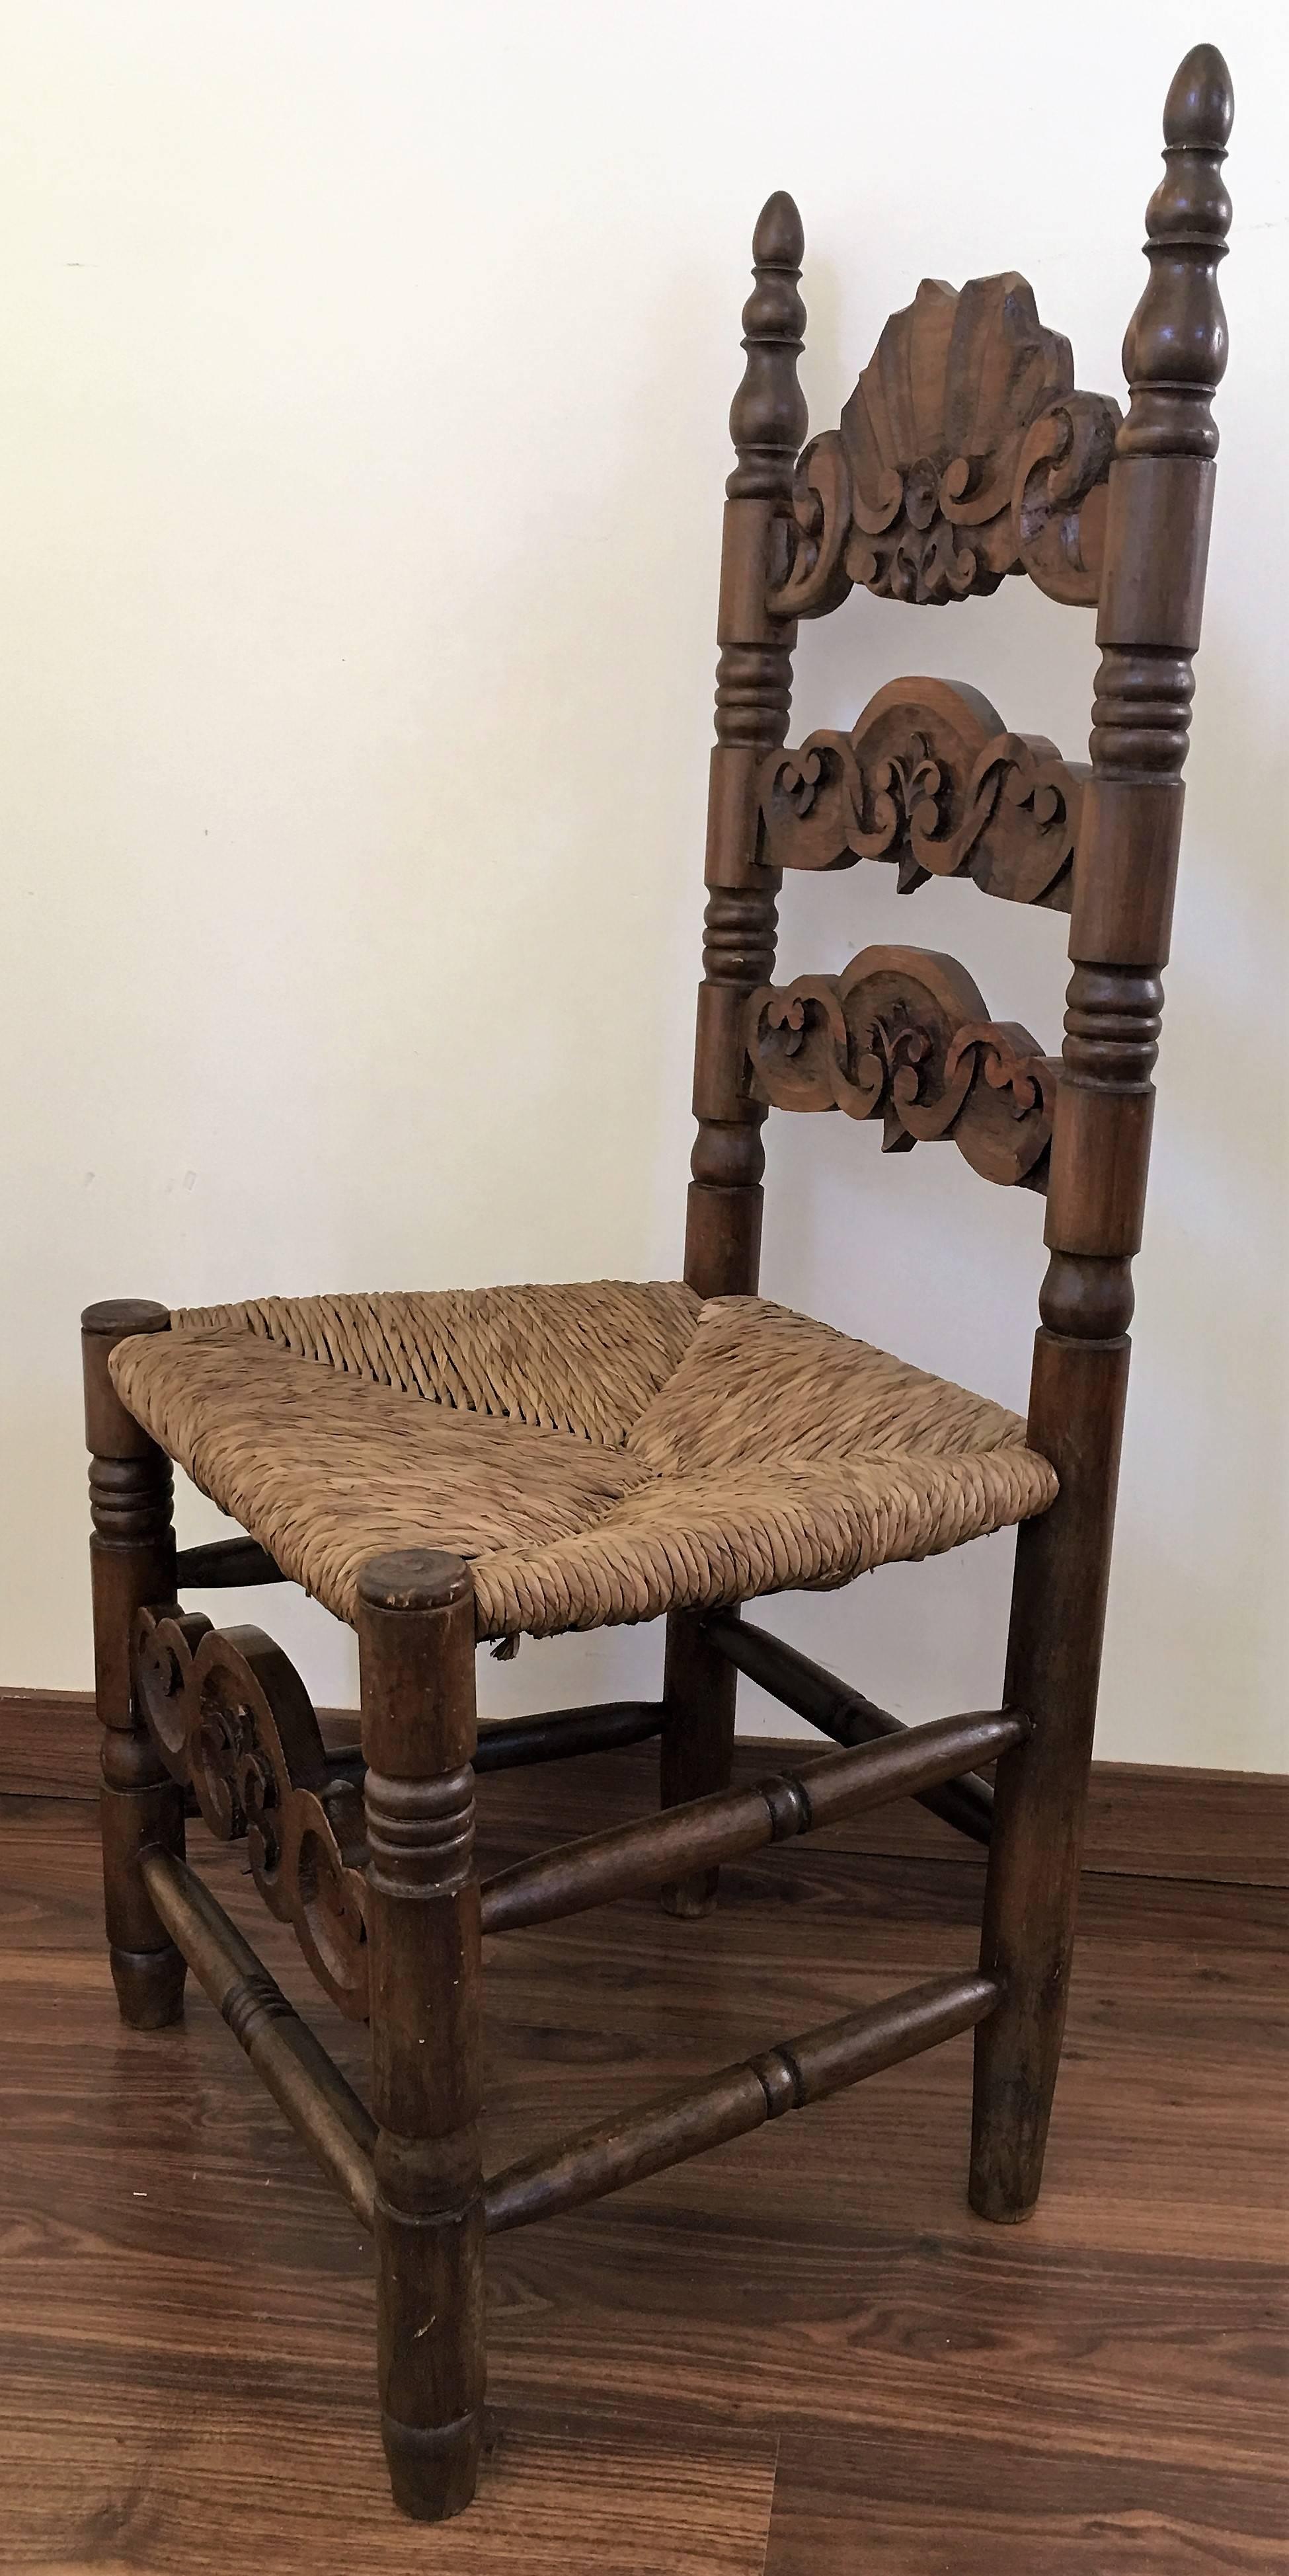
<path id="1" fill-rule="evenodd" d="M 962 291 L 923 278 L 838 428 L 804 446 L 802 224 L 789 196 L 761 214 L 730 412 L 693 1079 L 686 1278 L 704 1296 L 758 1283 L 768 1105 L 840 1108 L 879 1118 L 887 1149 L 951 1136 L 990 1180 L 1047 1190 L 1047 1324 L 1127 1324 L 1225 371 L 1230 121 L 1227 67 L 1196 46 L 1165 106 L 1127 417 L 1075 389 L 1070 345 L 1021 276 Z M 1090 765 L 933 677 L 895 680 L 851 732 L 786 747 L 797 618 L 856 585 L 946 608 L 1021 572 L 1098 611 Z M 918 948 L 773 987 L 784 871 L 861 860 L 892 863 L 900 891 L 962 876 L 1067 912 L 1062 1056 L 990 1020 L 967 971 Z"/>

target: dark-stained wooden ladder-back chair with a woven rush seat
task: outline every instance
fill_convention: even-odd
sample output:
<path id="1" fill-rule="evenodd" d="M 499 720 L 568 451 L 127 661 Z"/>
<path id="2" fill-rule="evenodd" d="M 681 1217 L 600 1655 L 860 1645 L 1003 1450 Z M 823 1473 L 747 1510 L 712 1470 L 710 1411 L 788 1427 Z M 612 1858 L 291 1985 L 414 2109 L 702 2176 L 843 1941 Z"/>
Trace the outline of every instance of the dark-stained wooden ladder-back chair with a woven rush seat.
<path id="1" fill-rule="evenodd" d="M 974 2025 L 972 2208 L 1039 2192 L 1083 1806 L 1181 832 L 1225 366 L 1217 263 L 1232 98 L 1196 46 L 1165 108 L 1129 410 L 1075 392 L 1018 276 L 923 281 L 840 428 L 802 453 L 802 227 L 755 229 L 732 407 L 717 750 L 683 1283 L 263 1298 L 85 1314 L 103 1862 L 124 2020 L 186 1968 L 374 2231 L 394 2496 L 459 2512 L 480 2458 L 487 2231 L 758 2128 Z M 895 680 L 848 734 L 784 750 L 797 618 L 858 585 L 946 605 L 1003 574 L 1098 608 L 1090 770 L 969 688 Z M 773 987 L 784 868 L 887 860 L 1070 914 L 1060 1061 L 990 1020 L 954 958 L 866 948 Z M 768 1105 L 951 1139 L 1047 1195 L 1029 1425 L 755 1296 Z M 170 1461 L 245 1538 L 175 1558 Z M 1003 1705 L 902 1728 L 740 1620 L 755 1595 L 1018 1522 Z M 330 1759 L 286 1656 L 186 1587 L 286 1577 L 356 1623 L 366 1765 Z M 474 1646 L 668 1618 L 660 1705 L 474 1723 Z M 730 1790 L 737 1674 L 840 1747 Z M 657 1734 L 663 1808 L 472 1870 L 474 1772 Z M 980 1770 L 998 1762 L 995 1790 Z M 371 2110 L 183 1857 L 186 1793 L 245 1834 L 268 1909 L 371 2020 Z M 480 2169 L 480 1927 L 663 1886 L 915 1795 L 987 1839 L 977 1968 L 933 1978 L 588 2136 Z"/>

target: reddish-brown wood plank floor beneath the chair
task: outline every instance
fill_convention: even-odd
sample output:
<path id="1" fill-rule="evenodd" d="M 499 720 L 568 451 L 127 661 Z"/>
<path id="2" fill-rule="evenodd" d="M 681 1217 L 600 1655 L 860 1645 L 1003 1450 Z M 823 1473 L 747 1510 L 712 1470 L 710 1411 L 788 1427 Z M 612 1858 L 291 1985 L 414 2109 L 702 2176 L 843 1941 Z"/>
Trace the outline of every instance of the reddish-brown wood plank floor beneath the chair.
<path id="1" fill-rule="evenodd" d="M 766 1747 L 750 1752 L 753 1775 Z M 0 1775 L 3 1777 L 3 1775 Z M 498 1865 L 647 1752 L 480 1785 Z M 193 1852 L 327 2045 L 240 1857 Z M 974 1955 L 858 1826 L 490 1958 L 487 2164 Z M 1158 1870 L 1158 1862 L 1155 1862 Z M 1049 2179 L 967 2210 L 969 2040 L 490 2249 L 472 2512 L 387 2499 L 369 2249 L 201 1994 L 116 2022 L 93 1811 L 0 1798 L 0 2571 L 1207 2576 L 1289 2566 L 1284 1891 L 1088 1875 Z"/>

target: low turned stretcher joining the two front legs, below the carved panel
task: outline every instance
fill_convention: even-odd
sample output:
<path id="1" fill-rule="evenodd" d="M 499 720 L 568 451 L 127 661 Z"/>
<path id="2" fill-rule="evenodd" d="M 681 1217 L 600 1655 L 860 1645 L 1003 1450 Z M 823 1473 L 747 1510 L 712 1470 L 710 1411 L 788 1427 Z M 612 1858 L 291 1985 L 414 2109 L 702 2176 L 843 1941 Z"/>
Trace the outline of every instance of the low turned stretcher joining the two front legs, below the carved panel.
<path id="1" fill-rule="evenodd" d="M 371 2112 L 196 1870 L 173 1852 L 144 1852 L 142 1875 L 170 1940 L 183 1950 L 199 1986 L 245 2048 L 273 2102 L 371 2231 L 376 2205 Z"/>

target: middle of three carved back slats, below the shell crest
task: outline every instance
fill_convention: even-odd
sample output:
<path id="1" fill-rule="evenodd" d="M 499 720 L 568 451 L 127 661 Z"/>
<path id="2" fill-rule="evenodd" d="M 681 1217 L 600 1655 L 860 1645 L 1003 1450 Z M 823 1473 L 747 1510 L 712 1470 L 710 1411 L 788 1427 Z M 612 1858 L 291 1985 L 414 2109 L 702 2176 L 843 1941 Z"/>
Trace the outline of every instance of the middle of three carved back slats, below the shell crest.
<path id="1" fill-rule="evenodd" d="M 853 868 L 887 858 L 900 894 L 969 876 L 1013 904 L 1070 912 L 1085 762 L 1044 734 L 1008 734 L 998 708 L 951 680 L 892 680 L 848 734 L 817 732 L 761 770 L 771 868 Z"/>

